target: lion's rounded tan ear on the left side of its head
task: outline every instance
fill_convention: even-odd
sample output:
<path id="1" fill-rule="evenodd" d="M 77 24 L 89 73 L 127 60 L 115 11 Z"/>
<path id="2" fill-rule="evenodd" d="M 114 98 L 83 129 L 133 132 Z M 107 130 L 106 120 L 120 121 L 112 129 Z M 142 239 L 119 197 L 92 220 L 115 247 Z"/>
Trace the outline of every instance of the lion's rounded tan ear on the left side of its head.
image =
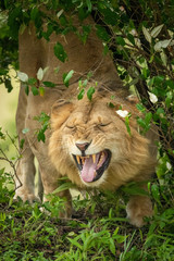
<path id="1" fill-rule="evenodd" d="M 57 100 L 51 110 L 51 127 L 60 127 L 70 116 L 74 109 L 74 104 L 70 101 L 60 99 Z"/>

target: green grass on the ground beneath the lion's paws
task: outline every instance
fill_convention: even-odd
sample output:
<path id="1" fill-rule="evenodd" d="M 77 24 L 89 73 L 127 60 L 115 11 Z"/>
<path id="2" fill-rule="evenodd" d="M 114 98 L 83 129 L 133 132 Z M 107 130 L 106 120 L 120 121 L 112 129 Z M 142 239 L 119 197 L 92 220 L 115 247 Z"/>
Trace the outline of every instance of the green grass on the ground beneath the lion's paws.
<path id="1" fill-rule="evenodd" d="M 0 177 L 0 260 L 174 260 L 174 209 L 171 173 L 165 183 L 151 184 L 157 194 L 151 198 L 154 216 L 142 228 L 135 228 L 125 219 L 127 195 L 121 188 L 86 194 L 74 198 L 73 217 L 58 217 L 64 202 L 52 196 L 51 202 L 33 206 L 13 202 L 14 191 L 5 183 L 11 176 L 1 171 Z M 125 189 L 124 189 L 125 190 Z M 47 210 L 40 211 L 40 207 Z"/>

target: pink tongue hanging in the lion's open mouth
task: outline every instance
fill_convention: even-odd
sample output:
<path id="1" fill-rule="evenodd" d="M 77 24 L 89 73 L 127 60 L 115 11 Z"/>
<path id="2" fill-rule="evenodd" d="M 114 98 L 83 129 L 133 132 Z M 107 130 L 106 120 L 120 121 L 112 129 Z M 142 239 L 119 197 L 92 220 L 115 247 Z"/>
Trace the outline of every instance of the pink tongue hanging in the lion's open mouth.
<path id="1" fill-rule="evenodd" d="M 82 178 L 84 182 L 92 182 L 95 178 L 95 173 L 97 170 L 97 163 L 99 160 L 99 153 L 96 156 L 96 162 L 94 163 L 92 161 L 92 157 L 90 156 L 89 158 L 87 158 L 85 160 L 85 163 L 83 165 L 83 170 L 82 170 Z"/>

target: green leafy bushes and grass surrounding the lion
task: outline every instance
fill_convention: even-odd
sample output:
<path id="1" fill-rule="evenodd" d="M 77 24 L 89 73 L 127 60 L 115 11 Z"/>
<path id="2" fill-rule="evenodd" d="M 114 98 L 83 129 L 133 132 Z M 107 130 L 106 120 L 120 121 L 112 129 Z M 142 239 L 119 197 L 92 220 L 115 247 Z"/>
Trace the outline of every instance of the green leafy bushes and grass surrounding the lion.
<path id="1" fill-rule="evenodd" d="M 65 12 L 77 13 L 83 26 L 80 34 L 65 17 Z M 160 135 L 157 177 L 149 182 L 154 216 L 147 226 L 136 229 L 124 217 L 127 196 L 133 194 L 134 184 L 115 194 L 95 192 L 90 197 L 86 194 L 80 200 L 77 196 L 73 201 L 73 219 L 67 221 L 58 217 L 63 200 L 55 196 L 44 206 L 13 202 L 13 176 L 20 153 L 16 135 L 12 133 L 14 125 L 4 126 L 3 122 L 0 126 L 1 260 L 174 260 L 173 13 L 172 0 L 0 2 L 0 83 L 5 85 L 8 92 L 14 91 L 9 66 L 18 70 L 18 32 L 33 21 L 39 38 L 49 40 L 52 32 L 65 35 L 73 30 L 85 44 L 90 26 L 83 25 L 83 21 L 92 15 L 104 51 L 112 51 L 120 77 L 127 88 L 135 88 L 141 100 L 138 109 L 145 119 L 137 119 L 139 125 L 147 130 L 154 123 Z M 47 30 L 42 29 L 44 22 Z M 55 55 L 64 62 L 63 47 L 55 48 Z M 33 92 L 36 95 L 35 80 L 27 83 L 28 88 L 29 85 L 35 87 Z M 2 100 L 4 86 L 0 88 Z M 5 110 L 3 107 L 1 114 Z M 41 212 L 40 207 L 45 207 L 49 215 Z"/>

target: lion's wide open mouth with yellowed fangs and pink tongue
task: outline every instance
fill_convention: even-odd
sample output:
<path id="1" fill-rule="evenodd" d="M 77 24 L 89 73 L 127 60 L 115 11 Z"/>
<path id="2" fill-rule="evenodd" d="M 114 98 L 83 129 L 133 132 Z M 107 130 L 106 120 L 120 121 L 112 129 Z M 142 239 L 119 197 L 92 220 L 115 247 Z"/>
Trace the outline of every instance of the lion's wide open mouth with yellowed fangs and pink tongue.
<path id="1" fill-rule="evenodd" d="M 80 171 L 80 177 L 86 183 L 98 181 L 111 160 L 111 151 L 103 150 L 96 154 L 88 154 L 86 157 L 73 154 L 74 160 Z"/>

